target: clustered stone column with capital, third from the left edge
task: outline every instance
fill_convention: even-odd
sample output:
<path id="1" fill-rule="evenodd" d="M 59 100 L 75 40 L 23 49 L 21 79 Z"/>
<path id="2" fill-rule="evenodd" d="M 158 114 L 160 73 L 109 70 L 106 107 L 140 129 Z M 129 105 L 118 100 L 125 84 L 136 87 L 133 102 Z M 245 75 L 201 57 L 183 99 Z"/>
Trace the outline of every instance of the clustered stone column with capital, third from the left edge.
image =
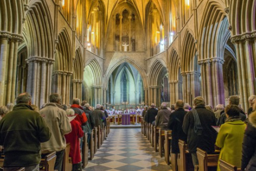
<path id="1" fill-rule="evenodd" d="M 70 104 L 70 84 L 71 84 L 72 72 L 68 71 L 54 71 L 52 73 L 53 88 L 52 92 L 61 95 L 62 104 Z M 75 87 L 73 87 L 75 91 Z"/>

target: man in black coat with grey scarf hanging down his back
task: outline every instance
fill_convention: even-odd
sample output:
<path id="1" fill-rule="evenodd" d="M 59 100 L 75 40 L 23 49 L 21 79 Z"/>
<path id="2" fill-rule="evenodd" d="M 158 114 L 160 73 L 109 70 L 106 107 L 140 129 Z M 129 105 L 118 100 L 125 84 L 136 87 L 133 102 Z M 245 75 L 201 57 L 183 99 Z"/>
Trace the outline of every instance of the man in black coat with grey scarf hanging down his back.
<path id="1" fill-rule="evenodd" d="M 212 128 L 212 126 L 216 126 L 215 114 L 205 109 L 203 97 L 195 97 L 193 103 L 195 108 L 185 115 L 182 129 L 187 134 L 188 152 L 191 153 L 195 166 L 198 165 L 196 148 L 201 148 L 207 153 L 213 153 L 217 133 Z"/>

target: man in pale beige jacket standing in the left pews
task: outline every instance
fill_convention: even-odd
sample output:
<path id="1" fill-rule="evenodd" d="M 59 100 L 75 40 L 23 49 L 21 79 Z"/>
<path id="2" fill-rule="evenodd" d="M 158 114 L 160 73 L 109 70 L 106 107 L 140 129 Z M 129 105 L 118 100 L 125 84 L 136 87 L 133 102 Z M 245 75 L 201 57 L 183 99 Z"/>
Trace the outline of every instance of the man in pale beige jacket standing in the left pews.
<path id="1" fill-rule="evenodd" d="M 52 93 L 49 96 L 49 103 L 40 110 L 41 116 L 51 130 L 52 136 L 48 142 L 41 143 L 43 156 L 56 151 L 56 161 L 54 170 L 61 171 L 62 159 L 66 148 L 64 135 L 72 131 L 69 118 L 66 116 L 63 106 L 61 106 L 61 96 Z"/>

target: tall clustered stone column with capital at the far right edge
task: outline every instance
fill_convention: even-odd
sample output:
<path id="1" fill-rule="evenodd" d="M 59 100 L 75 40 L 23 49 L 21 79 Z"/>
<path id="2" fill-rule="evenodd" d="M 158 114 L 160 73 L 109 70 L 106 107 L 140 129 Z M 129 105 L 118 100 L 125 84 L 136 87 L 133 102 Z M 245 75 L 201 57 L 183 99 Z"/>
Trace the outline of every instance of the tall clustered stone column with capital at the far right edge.
<path id="1" fill-rule="evenodd" d="M 256 31 L 232 36 L 231 42 L 236 45 L 237 51 L 240 104 L 247 112 L 248 98 L 256 93 Z"/>

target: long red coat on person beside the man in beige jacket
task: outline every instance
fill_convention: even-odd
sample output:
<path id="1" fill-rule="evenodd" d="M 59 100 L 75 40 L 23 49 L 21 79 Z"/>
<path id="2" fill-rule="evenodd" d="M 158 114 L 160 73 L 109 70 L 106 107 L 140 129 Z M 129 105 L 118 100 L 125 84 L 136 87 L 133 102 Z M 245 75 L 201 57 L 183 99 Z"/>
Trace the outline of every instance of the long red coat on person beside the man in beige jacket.
<path id="1" fill-rule="evenodd" d="M 79 138 L 83 136 L 83 130 L 78 121 L 71 121 L 72 132 L 65 135 L 66 143 L 70 143 L 69 157 L 72 157 L 72 164 L 81 162 Z"/>

